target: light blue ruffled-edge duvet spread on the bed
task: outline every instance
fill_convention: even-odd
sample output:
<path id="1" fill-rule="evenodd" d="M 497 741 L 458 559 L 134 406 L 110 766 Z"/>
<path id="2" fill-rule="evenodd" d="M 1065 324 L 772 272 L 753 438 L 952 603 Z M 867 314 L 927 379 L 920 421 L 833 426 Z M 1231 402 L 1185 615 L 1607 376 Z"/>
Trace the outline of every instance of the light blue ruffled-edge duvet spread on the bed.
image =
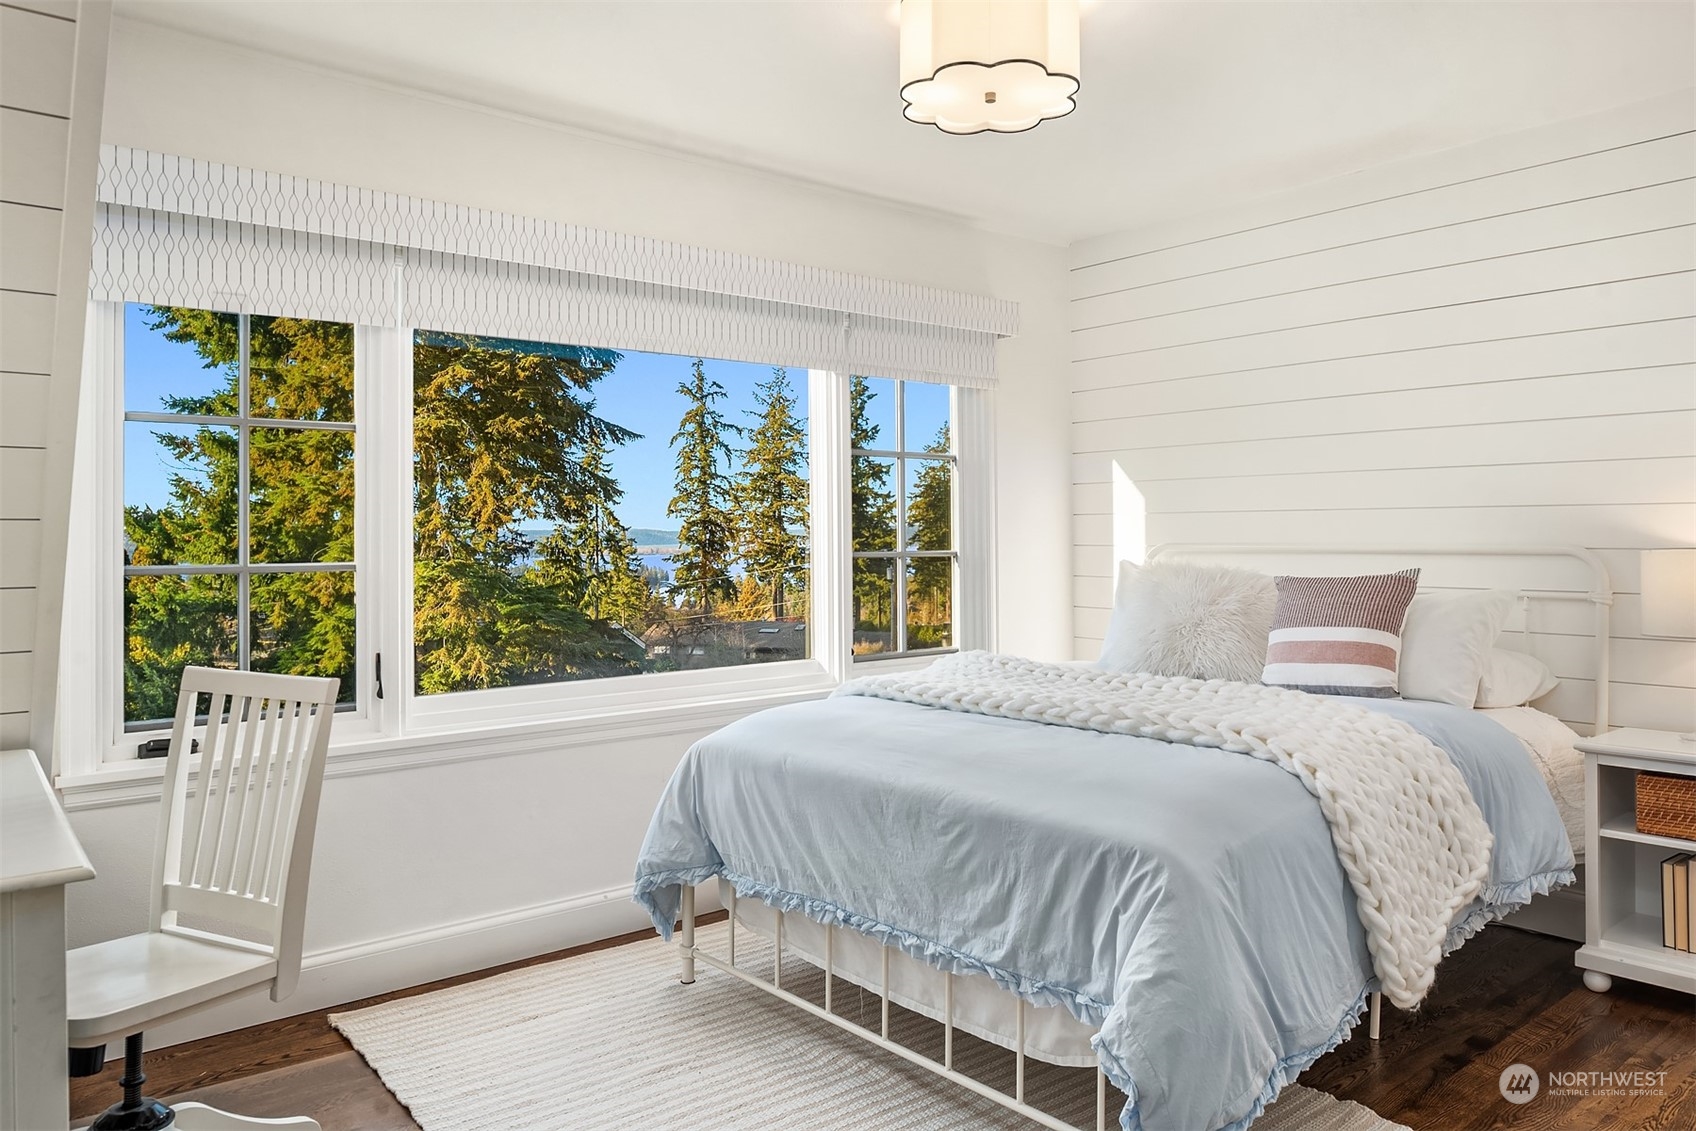
<path id="1" fill-rule="evenodd" d="M 1518 739 L 1443 704 L 1364 705 L 1448 751 L 1494 833 L 1448 948 L 1572 880 Z M 670 938 L 680 883 L 714 875 L 1101 1026 L 1126 1131 L 1247 1128 L 1374 989 L 1316 799 L 1219 749 L 867 697 L 777 707 L 683 756 L 636 899 Z"/>

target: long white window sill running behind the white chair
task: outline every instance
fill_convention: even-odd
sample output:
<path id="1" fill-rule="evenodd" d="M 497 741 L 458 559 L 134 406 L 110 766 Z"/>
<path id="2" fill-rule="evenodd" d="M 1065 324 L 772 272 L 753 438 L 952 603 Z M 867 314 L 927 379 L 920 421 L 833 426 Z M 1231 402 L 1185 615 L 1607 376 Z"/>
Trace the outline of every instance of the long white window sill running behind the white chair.
<path id="1" fill-rule="evenodd" d="M 526 719 L 502 726 L 480 724 L 461 729 L 382 738 L 354 736 L 332 741 L 326 778 L 388 773 L 451 761 L 502 758 L 541 749 L 604 744 L 617 739 L 658 738 L 714 729 L 743 716 L 807 699 L 823 699 L 836 683 L 819 677 L 804 685 L 712 699 L 683 699 L 675 704 L 573 712 L 551 719 Z M 193 770 L 190 770 L 193 777 Z M 131 758 L 105 763 L 93 773 L 61 773 L 54 785 L 64 809 L 105 809 L 158 800 L 165 780 L 163 758 Z"/>

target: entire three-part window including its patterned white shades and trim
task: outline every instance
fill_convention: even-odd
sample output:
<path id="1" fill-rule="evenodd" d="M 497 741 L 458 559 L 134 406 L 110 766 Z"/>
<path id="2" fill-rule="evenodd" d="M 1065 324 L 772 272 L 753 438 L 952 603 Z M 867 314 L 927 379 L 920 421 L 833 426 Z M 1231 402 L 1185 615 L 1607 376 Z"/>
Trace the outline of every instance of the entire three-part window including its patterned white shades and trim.
<path id="1" fill-rule="evenodd" d="M 124 146 L 97 180 L 71 787 L 149 788 L 85 778 L 185 665 L 339 677 L 353 770 L 996 644 L 1018 304 Z"/>

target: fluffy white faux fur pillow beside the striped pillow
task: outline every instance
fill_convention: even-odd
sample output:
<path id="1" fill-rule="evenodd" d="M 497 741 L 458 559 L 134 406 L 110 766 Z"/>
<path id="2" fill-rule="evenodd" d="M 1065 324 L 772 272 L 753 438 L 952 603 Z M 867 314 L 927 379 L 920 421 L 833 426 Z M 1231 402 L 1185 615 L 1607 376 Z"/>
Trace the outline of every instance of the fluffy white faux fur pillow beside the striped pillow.
<path id="1" fill-rule="evenodd" d="M 1275 610 L 1277 583 L 1265 573 L 1121 561 L 1101 666 L 1255 683 Z"/>

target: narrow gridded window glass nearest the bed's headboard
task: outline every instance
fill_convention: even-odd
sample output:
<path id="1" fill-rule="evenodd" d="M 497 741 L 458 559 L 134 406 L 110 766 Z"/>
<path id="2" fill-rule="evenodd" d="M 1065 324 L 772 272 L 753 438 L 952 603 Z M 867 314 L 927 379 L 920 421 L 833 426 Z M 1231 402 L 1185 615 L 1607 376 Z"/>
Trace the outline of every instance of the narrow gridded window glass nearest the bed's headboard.
<path id="1" fill-rule="evenodd" d="M 953 648 L 951 392 L 850 378 L 855 658 Z"/>

